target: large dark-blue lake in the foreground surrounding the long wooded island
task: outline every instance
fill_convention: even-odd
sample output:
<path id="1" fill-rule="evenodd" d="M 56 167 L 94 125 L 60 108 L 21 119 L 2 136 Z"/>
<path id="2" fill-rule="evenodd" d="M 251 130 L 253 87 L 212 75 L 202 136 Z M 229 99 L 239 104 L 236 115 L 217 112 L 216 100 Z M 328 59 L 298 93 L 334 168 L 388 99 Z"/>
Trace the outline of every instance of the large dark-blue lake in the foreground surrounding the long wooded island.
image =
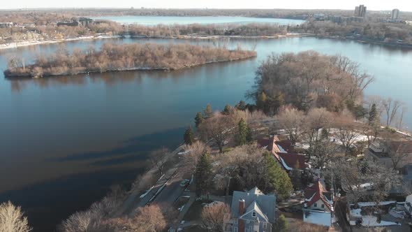
<path id="1" fill-rule="evenodd" d="M 105 39 L 67 43 L 68 50 L 102 43 L 194 43 Z M 196 112 L 244 100 L 256 67 L 271 52 L 316 50 L 358 61 L 376 82 L 366 94 L 392 96 L 412 109 L 412 50 L 318 38 L 231 40 L 256 45 L 258 57 L 181 71 L 131 71 L 41 79 L 3 78 L 6 59 L 49 54 L 59 45 L 0 51 L 0 202 L 10 199 L 36 231 L 101 198 L 111 184 L 130 184 L 147 153 L 176 147 Z M 412 114 L 406 122 L 412 126 Z"/>

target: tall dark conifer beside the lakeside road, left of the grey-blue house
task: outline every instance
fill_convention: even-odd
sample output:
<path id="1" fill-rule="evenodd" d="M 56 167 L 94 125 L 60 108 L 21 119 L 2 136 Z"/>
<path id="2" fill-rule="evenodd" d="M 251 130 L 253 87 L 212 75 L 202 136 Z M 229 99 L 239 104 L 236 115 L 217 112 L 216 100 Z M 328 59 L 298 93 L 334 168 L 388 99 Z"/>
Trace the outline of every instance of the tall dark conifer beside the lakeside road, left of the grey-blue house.
<path id="1" fill-rule="evenodd" d="M 207 194 L 212 187 L 212 164 L 209 154 L 203 153 L 198 161 L 195 171 L 196 196 Z"/>

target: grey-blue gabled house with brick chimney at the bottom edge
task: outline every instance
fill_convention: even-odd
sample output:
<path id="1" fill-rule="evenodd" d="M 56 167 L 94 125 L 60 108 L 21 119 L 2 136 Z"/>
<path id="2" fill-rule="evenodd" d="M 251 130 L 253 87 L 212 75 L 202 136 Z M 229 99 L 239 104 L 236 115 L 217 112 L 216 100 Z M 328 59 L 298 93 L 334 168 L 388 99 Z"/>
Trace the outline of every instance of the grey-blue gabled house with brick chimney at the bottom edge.
<path id="1" fill-rule="evenodd" d="M 257 187 L 233 191 L 231 212 L 224 231 L 271 232 L 276 223 L 276 195 L 265 195 Z"/>

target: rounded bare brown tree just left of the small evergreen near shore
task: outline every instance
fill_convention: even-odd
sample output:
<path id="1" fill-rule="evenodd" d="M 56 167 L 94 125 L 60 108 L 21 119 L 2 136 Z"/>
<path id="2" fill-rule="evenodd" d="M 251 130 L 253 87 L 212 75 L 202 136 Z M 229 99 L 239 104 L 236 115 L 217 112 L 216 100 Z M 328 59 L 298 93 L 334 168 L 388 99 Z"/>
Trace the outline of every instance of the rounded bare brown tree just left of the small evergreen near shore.
<path id="1" fill-rule="evenodd" d="M 234 126 L 230 117 L 216 113 L 200 124 L 199 132 L 206 143 L 209 140 L 214 140 L 214 143 L 219 147 L 219 151 L 223 152 L 223 146 L 232 136 L 231 130 Z"/>

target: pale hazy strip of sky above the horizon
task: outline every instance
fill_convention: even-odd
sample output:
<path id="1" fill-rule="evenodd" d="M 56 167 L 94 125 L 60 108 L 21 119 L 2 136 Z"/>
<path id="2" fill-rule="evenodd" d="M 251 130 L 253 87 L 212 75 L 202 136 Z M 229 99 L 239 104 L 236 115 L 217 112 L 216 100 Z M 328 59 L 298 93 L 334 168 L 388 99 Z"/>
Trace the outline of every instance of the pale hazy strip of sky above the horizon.
<path id="1" fill-rule="evenodd" d="M 293 8 L 354 9 L 365 4 L 370 10 L 399 8 L 412 11 L 412 0 L 4 0 L 0 8 Z"/>

